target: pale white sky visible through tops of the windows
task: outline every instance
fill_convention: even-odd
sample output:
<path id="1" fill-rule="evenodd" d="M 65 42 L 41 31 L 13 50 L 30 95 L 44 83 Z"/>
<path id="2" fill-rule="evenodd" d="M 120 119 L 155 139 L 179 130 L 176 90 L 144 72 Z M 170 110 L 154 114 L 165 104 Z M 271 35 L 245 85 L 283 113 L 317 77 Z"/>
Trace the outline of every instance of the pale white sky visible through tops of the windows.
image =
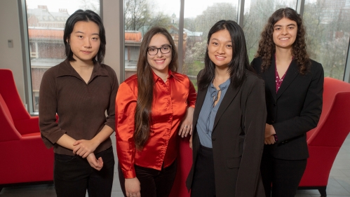
<path id="1" fill-rule="evenodd" d="M 119 0 L 120 1 L 120 0 Z M 163 11 L 167 15 L 175 15 L 177 18 L 180 15 L 180 0 L 165 1 L 152 0 L 155 11 Z M 234 6 L 238 6 L 238 0 L 184 0 L 184 18 L 195 18 L 196 15 L 201 15 L 208 6 L 213 6 L 217 2 L 228 2 Z M 69 14 L 74 13 L 79 9 L 81 0 L 27 0 L 27 8 L 38 8 L 38 5 L 48 6 L 48 11 L 58 12 L 59 8 L 67 8 Z M 250 6 L 250 0 L 245 0 L 245 7 Z"/>

